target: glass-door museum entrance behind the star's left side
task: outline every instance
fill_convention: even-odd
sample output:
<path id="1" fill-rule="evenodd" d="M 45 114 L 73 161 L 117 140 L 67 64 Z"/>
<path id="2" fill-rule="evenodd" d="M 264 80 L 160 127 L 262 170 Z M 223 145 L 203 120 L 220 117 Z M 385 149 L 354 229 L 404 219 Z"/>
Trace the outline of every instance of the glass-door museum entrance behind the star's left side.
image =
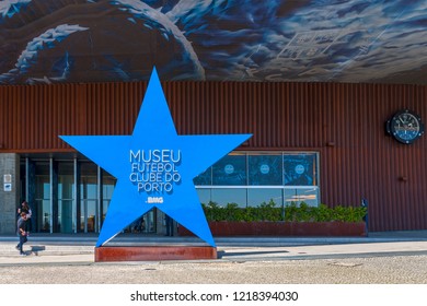
<path id="1" fill-rule="evenodd" d="M 21 161 L 21 198 L 33 211 L 34 233 L 99 233 L 116 179 L 79 158 L 25 157 Z M 124 232 L 155 233 L 155 211 Z"/>

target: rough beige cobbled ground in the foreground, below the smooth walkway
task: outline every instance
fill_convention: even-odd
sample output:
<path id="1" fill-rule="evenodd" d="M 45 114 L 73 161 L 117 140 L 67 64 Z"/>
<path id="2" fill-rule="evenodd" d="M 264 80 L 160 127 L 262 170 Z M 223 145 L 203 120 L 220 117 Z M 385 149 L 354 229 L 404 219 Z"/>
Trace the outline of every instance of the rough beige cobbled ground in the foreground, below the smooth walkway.
<path id="1" fill-rule="evenodd" d="M 2 284 L 427 284 L 427 256 L 0 267 Z"/>

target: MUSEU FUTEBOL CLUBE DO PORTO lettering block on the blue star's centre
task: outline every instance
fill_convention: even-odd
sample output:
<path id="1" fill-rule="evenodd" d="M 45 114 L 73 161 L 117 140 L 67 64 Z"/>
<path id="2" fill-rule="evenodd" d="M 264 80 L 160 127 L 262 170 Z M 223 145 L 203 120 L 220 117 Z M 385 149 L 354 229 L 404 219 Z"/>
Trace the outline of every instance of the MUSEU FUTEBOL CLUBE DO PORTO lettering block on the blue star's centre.
<path id="1" fill-rule="evenodd" d="M 173 192 L 174 184 L 181 181 L 177 166 L 181 164 L 181 150 L 130 150 L 129 179 L 138 192 Z"/>

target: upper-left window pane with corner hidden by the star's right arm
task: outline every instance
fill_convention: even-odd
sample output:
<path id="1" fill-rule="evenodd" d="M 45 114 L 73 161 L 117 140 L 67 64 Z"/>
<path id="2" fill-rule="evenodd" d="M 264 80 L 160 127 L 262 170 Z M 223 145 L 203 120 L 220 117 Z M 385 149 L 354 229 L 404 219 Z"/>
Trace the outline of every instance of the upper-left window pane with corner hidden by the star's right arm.
<path id="1" fill-rule="evenodd" d="M 227 155 L 212 166 L 212 185 L 246 185 L 246 155 Z"/>

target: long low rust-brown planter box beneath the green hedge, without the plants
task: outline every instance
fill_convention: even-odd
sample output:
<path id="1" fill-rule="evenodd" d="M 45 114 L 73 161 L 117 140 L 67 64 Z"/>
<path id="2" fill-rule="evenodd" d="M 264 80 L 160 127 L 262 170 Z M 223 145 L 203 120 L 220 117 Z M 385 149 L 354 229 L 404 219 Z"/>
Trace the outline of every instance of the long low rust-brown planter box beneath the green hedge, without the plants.
<path id="1" fill-rule="evenodd" d="M 209 222 L 212 236 L 366 236 L 365 222 Z M 180 236 L 193 236 L 180 225 Z"/>

